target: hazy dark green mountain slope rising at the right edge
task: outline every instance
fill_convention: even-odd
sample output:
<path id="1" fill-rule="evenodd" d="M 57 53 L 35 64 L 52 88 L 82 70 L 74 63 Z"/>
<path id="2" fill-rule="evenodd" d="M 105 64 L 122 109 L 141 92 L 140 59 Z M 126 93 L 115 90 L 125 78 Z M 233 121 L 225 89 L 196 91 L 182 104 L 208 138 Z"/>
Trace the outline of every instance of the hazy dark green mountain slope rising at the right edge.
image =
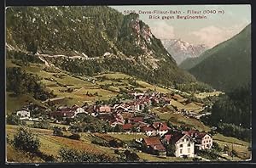
<path id="1" fill-rule="evenodd" d="M 226 42 L 201 54 L 204 59 L 189 72 L 197 80 L 229 92 L 251 82 L 251 25 Z"/>

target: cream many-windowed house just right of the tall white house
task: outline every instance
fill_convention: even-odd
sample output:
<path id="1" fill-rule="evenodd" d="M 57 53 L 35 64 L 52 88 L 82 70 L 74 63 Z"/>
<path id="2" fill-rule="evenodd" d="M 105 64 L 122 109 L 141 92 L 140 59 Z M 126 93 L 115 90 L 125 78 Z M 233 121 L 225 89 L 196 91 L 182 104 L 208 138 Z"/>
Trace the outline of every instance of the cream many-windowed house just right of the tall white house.
<path id="1" fill-rule="evenodd" d="M 212 137 L 206 132 L 198 132 L 191 130 L 187 133 L 190 137 L 195 139 L 195 148 L 198 150 L 201 149 L 210 149 L 212 148 Z"/>

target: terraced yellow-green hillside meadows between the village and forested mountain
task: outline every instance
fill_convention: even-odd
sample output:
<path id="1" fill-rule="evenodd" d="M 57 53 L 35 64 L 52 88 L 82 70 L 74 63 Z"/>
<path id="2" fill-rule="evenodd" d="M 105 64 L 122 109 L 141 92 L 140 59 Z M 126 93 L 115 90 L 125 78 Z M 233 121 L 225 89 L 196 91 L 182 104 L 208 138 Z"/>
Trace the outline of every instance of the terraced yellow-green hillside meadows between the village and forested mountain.
<path id="1" fill-rule="evenodd" d="M 14 66 L 17 65 L 13 64 L 11 60 L 7 61 L 7 67 Z M 45 71 L 44 64 L 29 64 L 27 66 L 22 66 L 21 68 L 28 73 L 38 75 L 49 92 L 53 91 L 55 95 L 57 95 L 57 98 L 62 98 L 61 100 L 55 101 L 56 104 L 61 105 L 82 105 L 85 102 L 91 104 L 97 100 L 108 100 L 109 98 L 115 97 L 119 93 L 120 88 L 130 88 L 131 84 L 129 84 L 128 79 L 133 78 L 132 76 L 127 76 L 119 72 L 106 73 L 94 77 L 73 76 L 64 70 L 61 70 L 61 72 L 58 73 Z M 102 80 L 102 77 L 104 77 L 104 80 Z M 169 90 L 165 88 L 154 87 L 144 81 L 137 80 L 137 83 L 141 86 L 136 88 L 138 90 L 144 91 L 148 89 L 156 89 L 158 92 L 169 92 Z M 108 89 L 102 89 L 102 85 L 106 84 L 113 84 L 113 86 L 108 87 Z M 68 91 L 68 88 L 72 88 L 73 90 Z M 10 95 L 11 92 L 8 92 L 8 113 L 20 109 L 23 105 L 27 104 L 28 101 L 32 101 L 34 104 L 43 105 L 29 95 L 20 95 L 21 98 L 11 98 Z"/>

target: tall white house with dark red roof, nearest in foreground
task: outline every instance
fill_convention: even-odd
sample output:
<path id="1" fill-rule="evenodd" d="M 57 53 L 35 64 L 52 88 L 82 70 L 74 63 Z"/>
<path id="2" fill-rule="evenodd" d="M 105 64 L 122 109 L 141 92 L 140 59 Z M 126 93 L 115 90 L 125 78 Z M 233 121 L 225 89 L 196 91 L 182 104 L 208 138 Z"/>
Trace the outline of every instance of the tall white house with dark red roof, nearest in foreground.
<path id="1" fill-rule="evenodd" d="M 176 157 L 195 157 L 195 142 L 188 134 L 175 132 L 170 135 L 165 135 L 163 143 L 173 143 L 175 145 L 176 150 L 174 155 Z"/>

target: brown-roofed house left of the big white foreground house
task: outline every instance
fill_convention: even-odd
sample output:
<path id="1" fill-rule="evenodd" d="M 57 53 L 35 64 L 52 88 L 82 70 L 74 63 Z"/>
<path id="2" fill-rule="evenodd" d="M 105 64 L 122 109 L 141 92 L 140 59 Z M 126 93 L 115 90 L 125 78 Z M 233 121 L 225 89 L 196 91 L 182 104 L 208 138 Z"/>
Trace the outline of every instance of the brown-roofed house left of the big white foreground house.
<path id="1" fill-rule="evenodd" d="M 166 156 L 166 148 L 160 142 L 159 137 L 145 137 L 143 138 L 143 146 L 149 154 L 156 154 L 159 156 Z"/>

